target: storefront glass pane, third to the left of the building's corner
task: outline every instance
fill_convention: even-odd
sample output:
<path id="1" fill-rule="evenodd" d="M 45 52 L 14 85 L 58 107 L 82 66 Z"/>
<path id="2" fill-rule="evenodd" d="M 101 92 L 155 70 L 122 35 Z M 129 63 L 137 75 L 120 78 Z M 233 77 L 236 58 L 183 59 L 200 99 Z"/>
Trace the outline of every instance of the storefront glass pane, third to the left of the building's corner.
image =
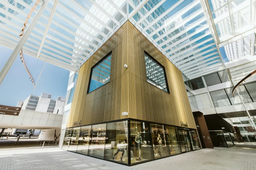
<path id="1" fill-rule="evenodd" d="M 83 126 L 80 129 L 80 135 L 77 146 L 77 153 L 88 154 L 89 150 L 89 142 L 92 139 L 91 135 L 91 127 L 92 126 Z"/>

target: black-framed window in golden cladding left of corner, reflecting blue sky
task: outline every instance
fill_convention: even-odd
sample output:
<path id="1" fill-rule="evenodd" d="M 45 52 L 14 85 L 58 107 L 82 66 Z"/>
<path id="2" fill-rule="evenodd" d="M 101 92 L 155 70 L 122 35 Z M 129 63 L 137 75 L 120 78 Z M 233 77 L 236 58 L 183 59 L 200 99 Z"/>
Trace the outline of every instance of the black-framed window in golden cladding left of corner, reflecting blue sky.
<path id="1" fill-rule="evenodd" d="M 111 57 L 112 55 L 108 54 L 92 68 L 88 93 L 109 82 Z"/>

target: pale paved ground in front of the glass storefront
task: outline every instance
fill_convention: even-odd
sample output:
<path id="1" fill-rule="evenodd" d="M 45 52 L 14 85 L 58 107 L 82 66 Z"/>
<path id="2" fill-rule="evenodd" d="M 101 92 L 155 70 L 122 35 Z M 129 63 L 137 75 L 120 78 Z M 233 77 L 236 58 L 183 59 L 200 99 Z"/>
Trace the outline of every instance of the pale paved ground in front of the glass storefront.
<path id="1" fill-rule="evenodd" d="M 239 144 L 230 149 L 201 149 L 130 167 L 58 148 L 1 150 L 0 169 L 256 169 L 256 145 L 249 144 L 252 143 Z"/>

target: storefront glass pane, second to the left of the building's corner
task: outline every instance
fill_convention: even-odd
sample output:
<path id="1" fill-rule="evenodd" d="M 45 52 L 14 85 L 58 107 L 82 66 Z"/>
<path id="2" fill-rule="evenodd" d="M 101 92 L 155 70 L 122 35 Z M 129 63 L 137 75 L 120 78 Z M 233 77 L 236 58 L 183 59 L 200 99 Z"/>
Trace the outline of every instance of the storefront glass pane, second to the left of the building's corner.
<path id="1" fill-rule="evenodd" d="M 106 124 L 92 125 L 88 155 L 104 158 Z"/>

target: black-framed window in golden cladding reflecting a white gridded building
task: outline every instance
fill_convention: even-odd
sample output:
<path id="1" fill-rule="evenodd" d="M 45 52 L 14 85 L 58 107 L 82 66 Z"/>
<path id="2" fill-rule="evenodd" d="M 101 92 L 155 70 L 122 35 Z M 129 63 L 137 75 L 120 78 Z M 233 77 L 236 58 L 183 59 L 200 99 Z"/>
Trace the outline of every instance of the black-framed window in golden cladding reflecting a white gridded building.
<path id="1" fill-rule="evenodd" d="M 147 82 L 153 84 L 154 86 L 168 92 L 167 81 L 165 76 L 164 67 L 155 61 L 149 55 L 145 55 L 145 65 L 146 65 L 146 76 Z"/>

